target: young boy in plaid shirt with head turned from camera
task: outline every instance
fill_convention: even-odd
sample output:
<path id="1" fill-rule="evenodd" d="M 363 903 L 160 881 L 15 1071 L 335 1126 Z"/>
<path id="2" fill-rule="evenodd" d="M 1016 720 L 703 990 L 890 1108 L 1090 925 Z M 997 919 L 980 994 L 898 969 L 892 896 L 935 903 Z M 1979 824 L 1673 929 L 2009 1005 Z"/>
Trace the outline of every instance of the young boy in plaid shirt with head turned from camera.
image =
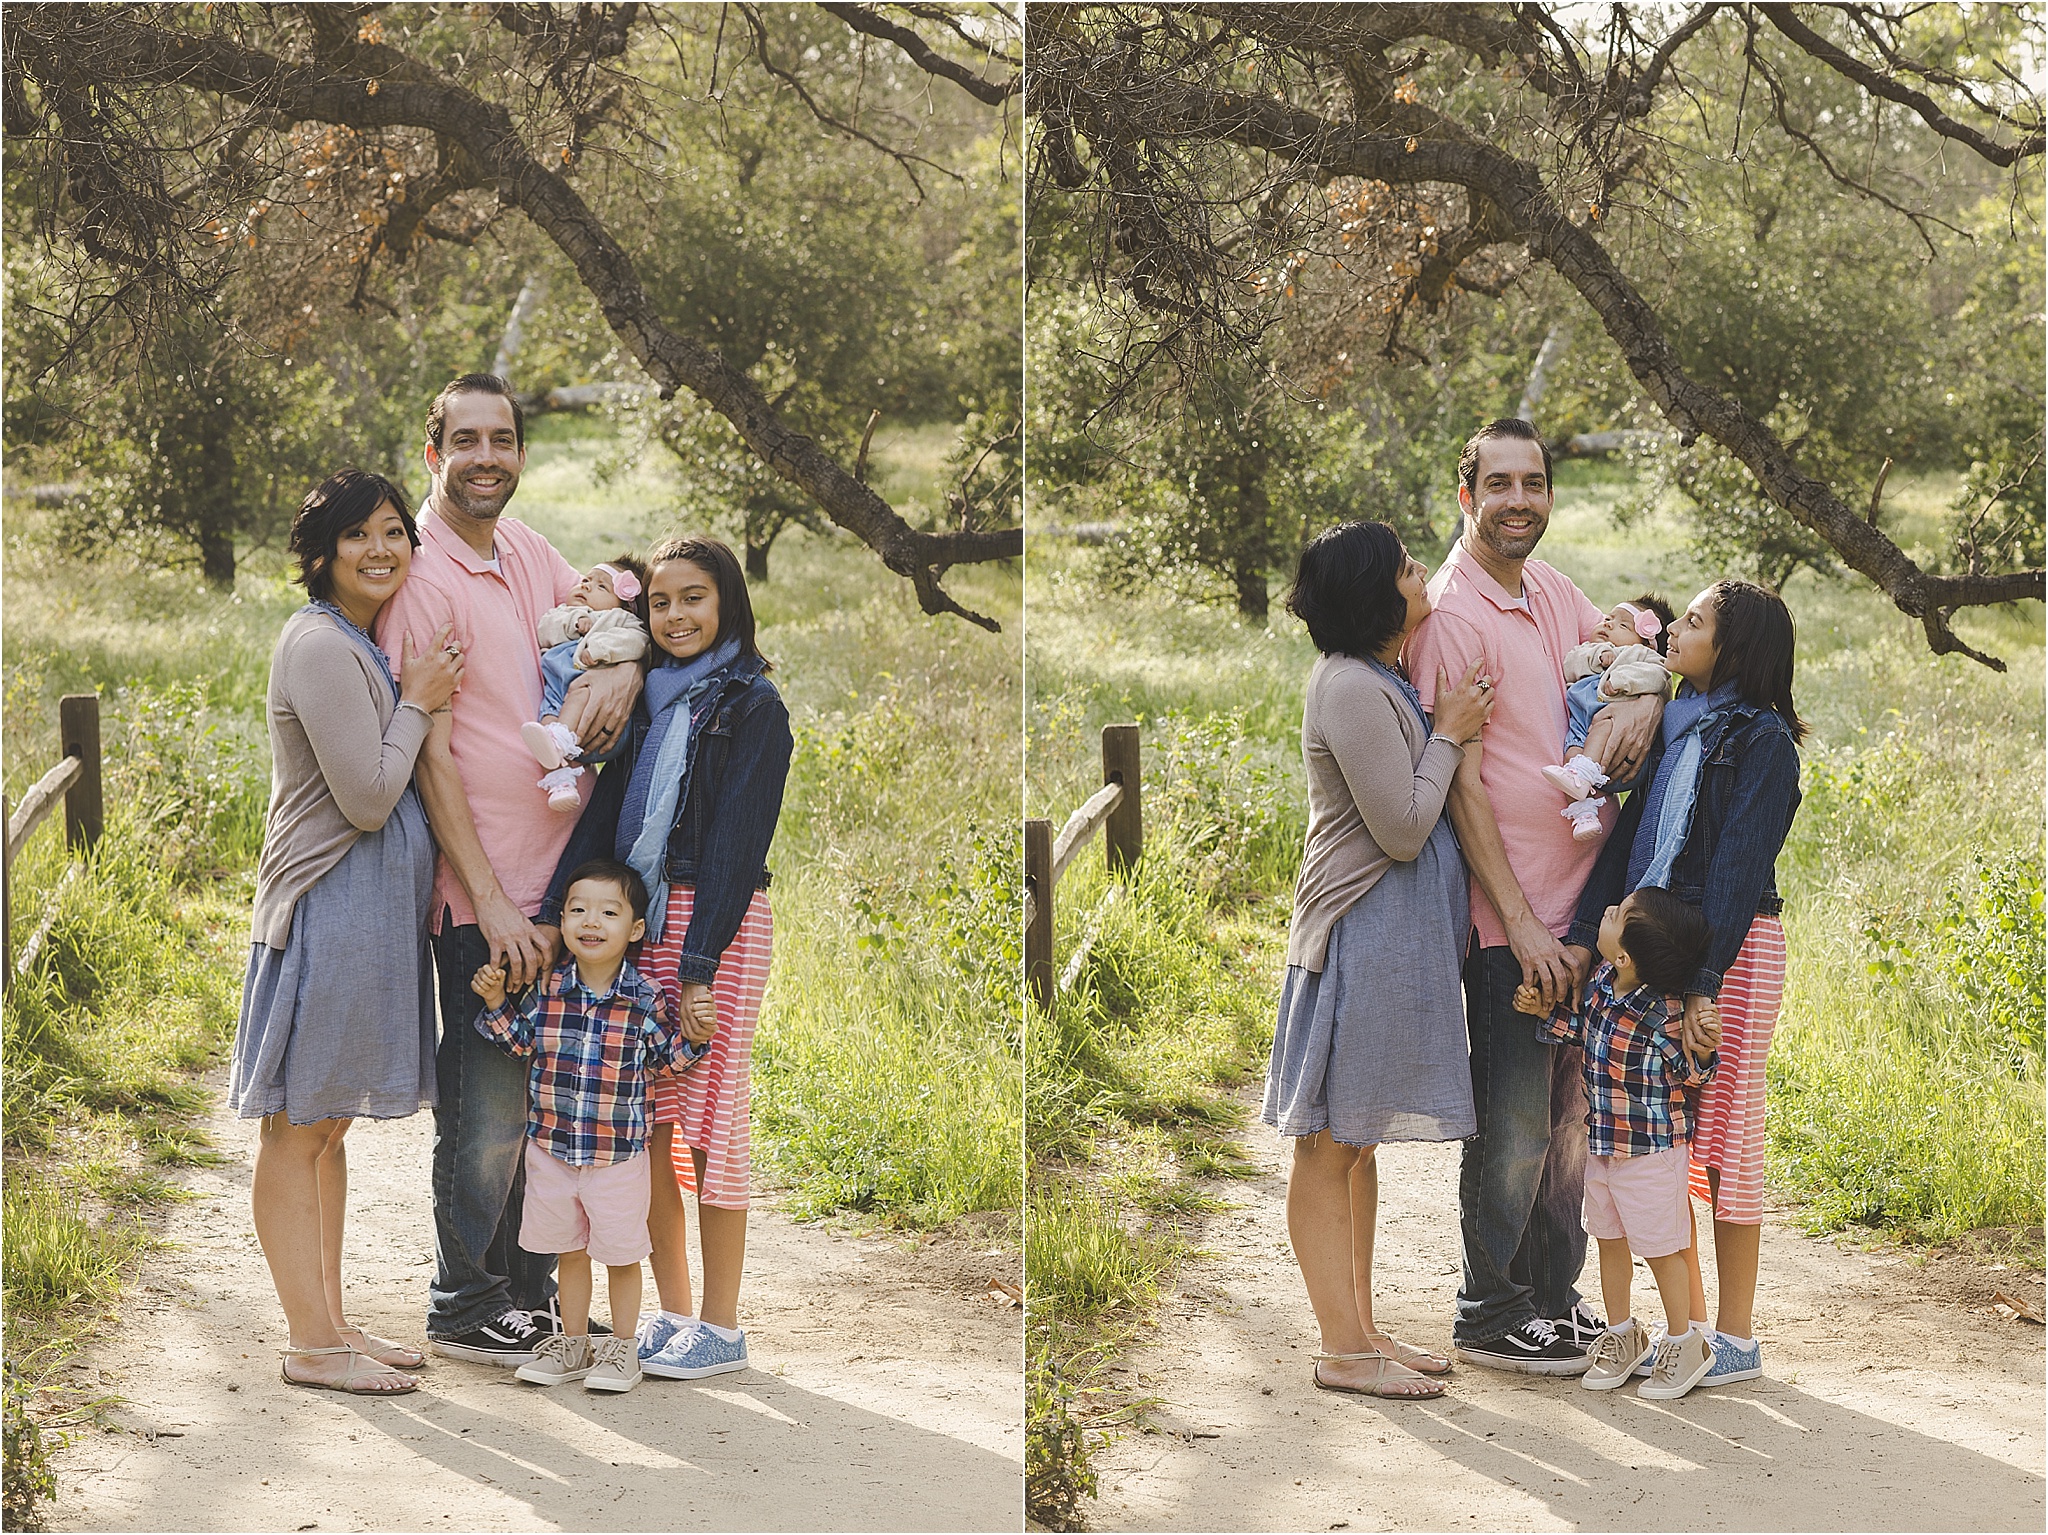
<path id="1" fill-rule="evenodd" d="M 1677 1398 L 1712 1367 L 1712 1339 L 1692 1322 L 1692 1208 L 1686 1197 L 1692 1099 L 1714 1074 L 1716 1054 L 1694 1062 L 1679 1046 L 1677 995 L 1706 958 L 1710 931 L 1698 907 L 1645 888 L 1608 907 L 1602 964 L 1579 1007 L 1559 1005 L 1542 1036 L 1585 1050 L 1585 1230 L 1599 1242 L 1599 1293 L 1618 1320 L 1593 1343 L 1579 1377 L 1589 1392 L 1622 1386 L 1653 1353 L 1642 1396 Z M 1516 1007 L 1542 1013 L 1530 986 Z M 1657 1279 L 1665 1336 L 1653 1341 L 1628 1306 L 1630 1253 Z"/>

